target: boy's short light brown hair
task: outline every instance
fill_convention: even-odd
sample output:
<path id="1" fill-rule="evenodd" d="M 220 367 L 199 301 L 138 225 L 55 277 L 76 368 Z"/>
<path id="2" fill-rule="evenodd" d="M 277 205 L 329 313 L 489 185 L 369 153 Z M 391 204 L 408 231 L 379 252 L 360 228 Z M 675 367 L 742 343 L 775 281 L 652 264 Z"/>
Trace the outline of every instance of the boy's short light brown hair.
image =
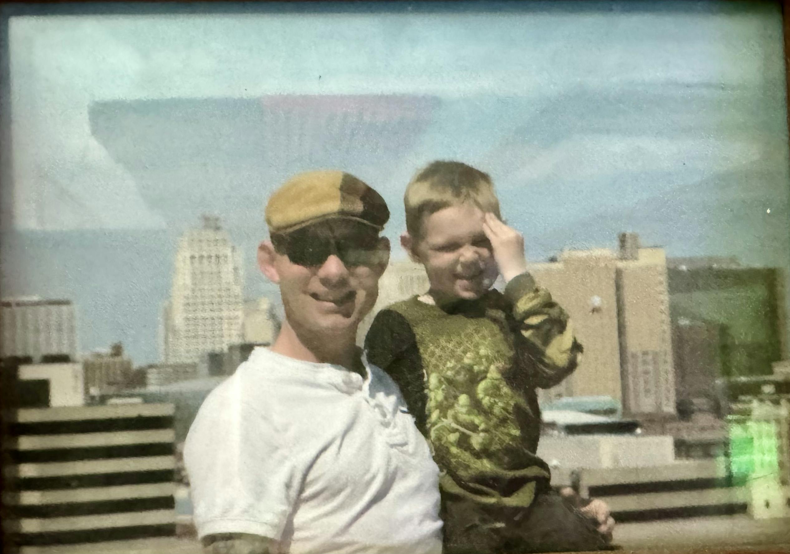
<path id="1" fill-rule="evenodd" d="M 425 215 L 444 208 L 472 202 L 499 217 L 499 200 L 491 178 L 461 162 L 436 161 L 419 170 L 406 187 L 406 230 L 419 238 Z"/>

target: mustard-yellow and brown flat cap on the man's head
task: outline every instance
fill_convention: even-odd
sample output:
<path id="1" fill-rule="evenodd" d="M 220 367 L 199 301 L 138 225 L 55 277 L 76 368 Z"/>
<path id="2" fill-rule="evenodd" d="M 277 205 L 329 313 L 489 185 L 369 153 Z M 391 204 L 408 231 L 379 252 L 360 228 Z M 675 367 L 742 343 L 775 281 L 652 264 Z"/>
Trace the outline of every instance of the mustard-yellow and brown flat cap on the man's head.
<path id="1" fill-rule="evenodd" d="M 344 171 L 307 171 L 284 182 L 266 204 L 270 233 L 288 233 L 322 219 L 352 219 L 378 230 L 389 219 L 384 199 Z"/>

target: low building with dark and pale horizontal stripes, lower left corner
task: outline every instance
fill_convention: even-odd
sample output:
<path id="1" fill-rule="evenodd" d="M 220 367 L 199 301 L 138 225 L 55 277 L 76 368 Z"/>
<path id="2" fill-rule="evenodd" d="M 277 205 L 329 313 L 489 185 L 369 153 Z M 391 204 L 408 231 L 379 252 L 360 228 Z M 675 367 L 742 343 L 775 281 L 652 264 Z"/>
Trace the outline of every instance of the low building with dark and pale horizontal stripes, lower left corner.
<path id="1" fill-rule="evenodd" d="M 171 404 L 4 414 L 3 530 L 10 545 L 175 534 Z"/>

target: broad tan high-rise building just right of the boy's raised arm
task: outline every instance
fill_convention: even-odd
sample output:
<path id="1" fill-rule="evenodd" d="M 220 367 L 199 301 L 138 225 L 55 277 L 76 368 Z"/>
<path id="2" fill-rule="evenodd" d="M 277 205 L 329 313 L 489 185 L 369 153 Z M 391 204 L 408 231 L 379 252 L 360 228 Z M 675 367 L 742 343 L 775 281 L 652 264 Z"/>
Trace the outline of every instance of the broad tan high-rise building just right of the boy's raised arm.
<path id="1" fill-rule="evenodd" d="M 574 374 L 544 398 L 604 395 L 622 402 L 624 414 L 675 414 L 664 249 L 621 234 L 617 252 L 566 250 L 529 270 L 570 314 L 585 347 Z"/>

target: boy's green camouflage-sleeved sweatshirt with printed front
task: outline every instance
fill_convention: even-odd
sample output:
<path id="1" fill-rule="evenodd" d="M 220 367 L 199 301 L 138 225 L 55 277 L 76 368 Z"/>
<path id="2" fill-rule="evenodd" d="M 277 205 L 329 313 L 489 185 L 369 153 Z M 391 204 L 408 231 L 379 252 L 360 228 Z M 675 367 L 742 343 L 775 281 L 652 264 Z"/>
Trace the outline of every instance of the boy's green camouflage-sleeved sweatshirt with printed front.
<path id="1" fill-rule="evenodd" d="M 581 345 L 532 275 L 476 301 L 397 302 L 377 314 L 365 348 L 401 387 L 442 470 L 442 492 L 527 507 L 538 482 L 548 484 L 548 466 L 535 454 L 536 387 L 568 376 Z"/>

